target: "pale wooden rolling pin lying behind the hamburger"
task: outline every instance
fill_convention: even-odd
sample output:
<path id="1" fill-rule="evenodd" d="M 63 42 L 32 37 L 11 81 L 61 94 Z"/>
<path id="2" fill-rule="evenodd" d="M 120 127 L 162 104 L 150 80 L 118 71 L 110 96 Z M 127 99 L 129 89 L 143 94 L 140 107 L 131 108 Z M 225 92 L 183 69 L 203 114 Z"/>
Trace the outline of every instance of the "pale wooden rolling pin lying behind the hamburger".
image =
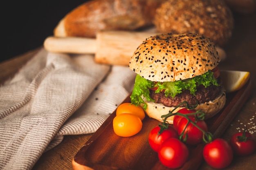
<path id="1" fill-rule="evenodd" d="M 155 32 L 100 31 L 96 39 L 48 37 L 44 47 L 54 53 L 95 54 L 95 61 L 110 65 L 128 65 L 137 47 Z M 217 49 L 221 59 L 225 51 Z"/>

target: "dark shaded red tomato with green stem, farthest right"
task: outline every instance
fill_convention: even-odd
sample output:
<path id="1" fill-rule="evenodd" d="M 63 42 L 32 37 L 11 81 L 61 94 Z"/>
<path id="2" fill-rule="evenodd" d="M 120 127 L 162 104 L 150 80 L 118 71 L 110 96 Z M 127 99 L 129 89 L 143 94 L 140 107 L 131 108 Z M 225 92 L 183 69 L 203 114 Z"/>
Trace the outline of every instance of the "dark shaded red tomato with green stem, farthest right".
<path id="1" fill-rule="evenodd" d="M 234 153 L 240 156 L 251 155 L 256 150 L 256 140 L 249 132 L 238 132 L 229 141 Z"/>

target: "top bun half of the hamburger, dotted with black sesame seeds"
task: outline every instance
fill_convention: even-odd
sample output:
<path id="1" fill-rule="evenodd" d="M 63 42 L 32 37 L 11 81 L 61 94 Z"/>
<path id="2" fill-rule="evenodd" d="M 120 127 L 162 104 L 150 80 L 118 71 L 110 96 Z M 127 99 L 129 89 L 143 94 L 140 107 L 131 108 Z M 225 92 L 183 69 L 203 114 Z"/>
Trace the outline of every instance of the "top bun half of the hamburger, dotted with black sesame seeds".
<path id="1" fill-rule="evenodd" d="M 173 82 L 202 75 L 219 62 L 215 45 L 204 35 L 167 33 L 142 42 L 129 67 L 153 82 Z"/>

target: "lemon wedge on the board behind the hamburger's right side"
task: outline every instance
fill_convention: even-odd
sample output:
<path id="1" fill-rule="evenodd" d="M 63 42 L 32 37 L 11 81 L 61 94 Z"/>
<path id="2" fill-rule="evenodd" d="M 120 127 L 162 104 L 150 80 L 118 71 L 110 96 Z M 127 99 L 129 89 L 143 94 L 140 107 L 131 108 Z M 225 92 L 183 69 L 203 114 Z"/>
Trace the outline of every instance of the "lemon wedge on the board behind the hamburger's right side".
<path id="1" fill-rule="evenodd" d="M 220 71 L 222 79 L 222 85 L 226 89 L 226 93 L 238 91 L 242 88 L 250 77 L 250 73 L 247 71 Z"/>

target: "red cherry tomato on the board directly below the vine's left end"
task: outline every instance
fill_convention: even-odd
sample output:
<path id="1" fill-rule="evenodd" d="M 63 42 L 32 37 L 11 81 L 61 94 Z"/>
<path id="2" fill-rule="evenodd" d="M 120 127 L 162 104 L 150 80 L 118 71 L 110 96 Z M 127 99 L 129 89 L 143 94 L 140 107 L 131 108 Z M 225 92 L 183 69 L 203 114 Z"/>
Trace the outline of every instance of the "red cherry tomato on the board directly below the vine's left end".
<path id="1" fill-rule="evenodd" d="M 176 138 L 163 142 L 158 151 L 159 161 L 168 168 L 180 168 L 189 157 L 187 146 Z"/>

